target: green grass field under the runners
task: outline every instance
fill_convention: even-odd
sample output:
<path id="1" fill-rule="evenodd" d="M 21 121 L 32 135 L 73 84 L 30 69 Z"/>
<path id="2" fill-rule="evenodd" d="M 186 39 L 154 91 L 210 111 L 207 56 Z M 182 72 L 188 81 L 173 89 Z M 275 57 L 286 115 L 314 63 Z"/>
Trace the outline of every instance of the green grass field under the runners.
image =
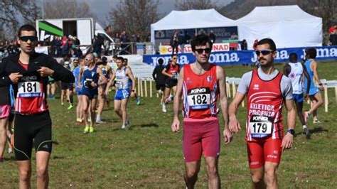
<path id="1" fill-rule="evenodd" d="M 251 70 L 241 65 L 224 68 L 230 77 L 241 77 Z M 277 68 L 282 70 L 282 65 Z M 337 63 L 319 64 L 319 75 L 321 79 L 337 80 Z M 294 146 L 282 154 L 279 166 L 280 188 L 336 188 L 334 90 L 330 89 L 328 95 L 329 112 L 323 112 L 323 107 L 319 109 L 322 123 L 312 124 L 309 119 L 308 126 L 313 133 L 310 140 L 301 134 L 301 125 L 296 121 Z M 169 112 L 164 114 L 156 97 L 143 98 L 139 106 L 131 99 L 128 111 L 132 126 L 129 129 L 120 129 L 121 121 L 112 109 L 106 109 L 102 115 L 106 123 L 97 125 L 95 133 L 87 135 L 82 134 L 83 125 L 75 124 L 74 109 L 69 111 L 66 106 L 62 107 L 59 99 L 49 104 L 54 141 L 49 166 L 50 188 L 184 188 L 182 135 L 171 133 L 171 104 Z M 305 104 L 304 109 L 308 108 L 309 104 Z M 245 109 L 242 107 L 238 118 L 244 125 Z M 5 152 L 4 158 L 5 162 L 0 164 L 0 188 L 18 188 L 14 154 Z M 222 144 L 219 162 L 223 188 L 250 188 L 245 131 L 235 135 L 231 144 Z M 203 161 L 201 166 L 196 188 L 207 185 Z M 33 156 L 32 187 L 36 188 L 34 170 Z"/>

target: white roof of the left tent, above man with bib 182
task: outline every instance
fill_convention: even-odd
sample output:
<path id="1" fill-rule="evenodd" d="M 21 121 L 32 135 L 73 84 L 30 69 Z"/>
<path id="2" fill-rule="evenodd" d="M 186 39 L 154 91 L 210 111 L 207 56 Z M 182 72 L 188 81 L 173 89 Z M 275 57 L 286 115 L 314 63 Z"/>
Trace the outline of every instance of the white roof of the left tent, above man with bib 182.
<path id="1" fill-rule="evenodd" d="M 235 23 L 215 9 L 171 11 L 160 21 L 151 24 L 151 42 L 154 43 L 154 31 L 224 26 L 235 26 Z"/>

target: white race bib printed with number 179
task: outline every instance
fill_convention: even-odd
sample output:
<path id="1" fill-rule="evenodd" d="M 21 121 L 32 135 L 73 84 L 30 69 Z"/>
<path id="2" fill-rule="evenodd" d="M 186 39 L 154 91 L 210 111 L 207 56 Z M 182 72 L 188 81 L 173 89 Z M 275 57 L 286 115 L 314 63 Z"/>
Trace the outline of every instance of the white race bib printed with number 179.
<path id="1" fill-rule="evenodd" d="M 263 138 L 272 134 L 272 117 L 252 115 L 250 117 L 250 135 L 252 138 Z"/>

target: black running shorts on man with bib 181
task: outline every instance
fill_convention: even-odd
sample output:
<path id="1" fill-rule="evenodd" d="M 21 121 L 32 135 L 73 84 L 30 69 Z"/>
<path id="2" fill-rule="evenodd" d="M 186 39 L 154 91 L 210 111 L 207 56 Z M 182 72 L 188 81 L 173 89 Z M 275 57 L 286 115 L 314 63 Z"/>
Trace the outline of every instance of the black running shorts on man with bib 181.
<path id="1" fill-rule="evenodd" d="M 31 151 L 51 153 L 51 119 L 49 112 L 33 115 L 16 114 L 14 121 L 14 151 L 16 161 L 31 159 Z"/>

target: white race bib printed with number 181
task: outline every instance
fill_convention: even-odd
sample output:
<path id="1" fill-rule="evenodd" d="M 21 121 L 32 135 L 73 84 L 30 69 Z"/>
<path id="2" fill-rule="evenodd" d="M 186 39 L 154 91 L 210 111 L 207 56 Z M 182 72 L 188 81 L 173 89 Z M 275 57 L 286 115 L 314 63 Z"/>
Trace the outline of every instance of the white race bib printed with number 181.
<path id="1" fill-rule="evenodd" d="M 18 83 L 18 97 L 40 97 L 41 84 L 36 81 L 19 82 Z"/>

